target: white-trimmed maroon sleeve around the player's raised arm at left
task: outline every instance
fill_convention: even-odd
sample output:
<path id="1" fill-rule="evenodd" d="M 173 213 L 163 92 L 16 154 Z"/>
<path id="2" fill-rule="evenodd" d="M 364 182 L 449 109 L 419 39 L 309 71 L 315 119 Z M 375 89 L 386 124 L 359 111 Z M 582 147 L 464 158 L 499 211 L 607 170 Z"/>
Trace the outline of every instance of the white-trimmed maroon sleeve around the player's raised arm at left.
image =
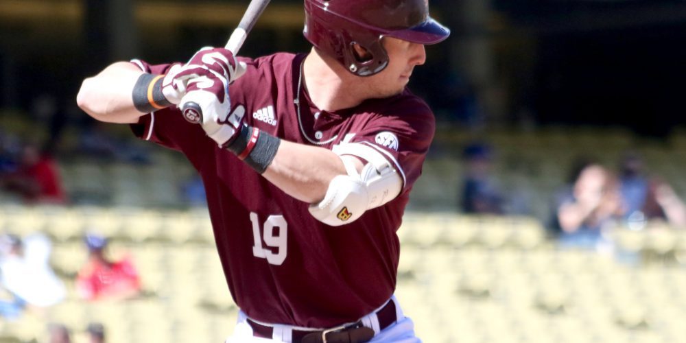
<path id="1" fill-rule="evenodd" d="M 171 64 L 147 64 L 132 60 L 142 71 L 153 74 L 167 73 Z M 152 141 L 185 154 L 194 165 L 201 156 L 214 151 L 216 143 L 205 134 L 198 124 L 189 123 L 176 106 L 156 110 L 140 117 L 131 124 L 132 132 L 139 139 Z"/>

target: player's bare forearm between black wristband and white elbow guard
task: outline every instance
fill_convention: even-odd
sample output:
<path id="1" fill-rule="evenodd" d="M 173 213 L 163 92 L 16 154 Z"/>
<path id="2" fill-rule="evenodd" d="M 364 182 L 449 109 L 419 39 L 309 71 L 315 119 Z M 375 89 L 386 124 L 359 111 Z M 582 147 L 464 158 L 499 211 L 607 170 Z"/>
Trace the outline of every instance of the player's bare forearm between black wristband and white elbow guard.
<path id="1" fill-rule="evenodd" d="M 324 198 L 329 182 L 345 173 L 340 157 L 331 150 L 281 141 L 262 175 L 290 196 L 315 203 Z"/>

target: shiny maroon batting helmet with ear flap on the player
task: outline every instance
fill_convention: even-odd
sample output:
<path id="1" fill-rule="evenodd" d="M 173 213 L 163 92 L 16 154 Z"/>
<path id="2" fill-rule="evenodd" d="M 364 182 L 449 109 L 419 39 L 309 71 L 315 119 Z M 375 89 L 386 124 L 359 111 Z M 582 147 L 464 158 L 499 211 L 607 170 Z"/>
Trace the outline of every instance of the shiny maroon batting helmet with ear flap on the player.
<path id="1" fill-rule="evenodd" d="M 428 0 L 305 0 L 305 38 L 351 73 L 379 73 L 388 64 L 383 36 L 435 44 L 450 30 L 429 16 Z M 355 57 L 353 44 L 371 54 Z"/>

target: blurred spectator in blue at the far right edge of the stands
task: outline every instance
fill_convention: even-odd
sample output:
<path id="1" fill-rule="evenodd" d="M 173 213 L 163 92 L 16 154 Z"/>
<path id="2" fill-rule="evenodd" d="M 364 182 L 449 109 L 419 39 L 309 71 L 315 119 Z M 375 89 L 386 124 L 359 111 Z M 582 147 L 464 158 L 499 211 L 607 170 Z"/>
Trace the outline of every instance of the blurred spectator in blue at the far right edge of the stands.
<path id="1" fill-rule="evenodd" d="M 625 219 L 639 226 L 650 220 L 665 220 L 674 226 L 686 225 L 686 206 L 664 180 L 646 175 L 641 156 L 628 152 L 619 163 L 619 182 Z"/>

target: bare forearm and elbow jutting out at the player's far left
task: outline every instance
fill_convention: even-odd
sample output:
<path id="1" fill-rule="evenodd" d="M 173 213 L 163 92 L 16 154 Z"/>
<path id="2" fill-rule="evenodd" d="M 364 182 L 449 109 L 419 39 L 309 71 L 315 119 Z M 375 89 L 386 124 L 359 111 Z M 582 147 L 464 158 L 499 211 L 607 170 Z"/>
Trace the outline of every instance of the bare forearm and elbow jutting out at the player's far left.
<path id="1" fill-rule="evenodd" d="M 130 62 L 116 62 L 84 80 L 76 98 L 91 117 L 109 123 L 136 123 L 141 115 L 134 107 L 132 90 L 143 72 Z"/>

